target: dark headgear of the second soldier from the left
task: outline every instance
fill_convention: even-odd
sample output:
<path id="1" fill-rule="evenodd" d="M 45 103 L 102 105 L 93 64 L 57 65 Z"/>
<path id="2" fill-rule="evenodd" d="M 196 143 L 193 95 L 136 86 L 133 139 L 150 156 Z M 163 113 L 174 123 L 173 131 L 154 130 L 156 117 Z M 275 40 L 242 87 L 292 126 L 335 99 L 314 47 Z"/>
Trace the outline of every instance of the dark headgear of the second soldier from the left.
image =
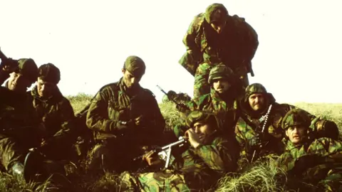
<path id="1" fill-rule="evenodd" d="M 38 78 L 58 84 L 59 80 L 61 80 L 61 71 L 52 63 L 44 64 L 38 68 Z"/>

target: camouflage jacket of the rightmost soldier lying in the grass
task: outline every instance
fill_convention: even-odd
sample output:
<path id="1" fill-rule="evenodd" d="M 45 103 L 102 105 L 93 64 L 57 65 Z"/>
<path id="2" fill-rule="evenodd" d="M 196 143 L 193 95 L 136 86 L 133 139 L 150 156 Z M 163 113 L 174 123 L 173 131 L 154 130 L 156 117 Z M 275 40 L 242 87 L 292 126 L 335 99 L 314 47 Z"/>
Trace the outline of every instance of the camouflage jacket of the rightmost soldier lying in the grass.
<path id="1" fill-rule="evenodd" d="M 336 173 L 340 170 L 339 173 L 342 173 L 341 141 L 321 137 L 307 139 L 299 146 L 295 146 L 288 139 L 284 141 L 286 151 L 280 156 L 278 165 L 291 176 L 318 182 L 325 178 L 329 171 Z"/>

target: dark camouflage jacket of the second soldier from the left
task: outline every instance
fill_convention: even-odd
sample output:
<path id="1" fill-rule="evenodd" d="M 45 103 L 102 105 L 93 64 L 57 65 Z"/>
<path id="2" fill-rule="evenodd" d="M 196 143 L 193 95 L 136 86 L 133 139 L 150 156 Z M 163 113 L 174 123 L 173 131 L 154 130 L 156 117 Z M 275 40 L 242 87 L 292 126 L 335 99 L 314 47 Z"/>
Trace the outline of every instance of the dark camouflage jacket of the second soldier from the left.
<path id="1" fill-rule="evenodd" d="M 72 124 L 75 118 L 73 107 L 58 88 L 51 97 L 43 99 L 39 97 L 35 86 L 31 90 L 31 97 L 38 118 L 46 127 L 46 133 L 43 136 L 46 141 L 64 143 L 76 140 L 76 127 Z"/>

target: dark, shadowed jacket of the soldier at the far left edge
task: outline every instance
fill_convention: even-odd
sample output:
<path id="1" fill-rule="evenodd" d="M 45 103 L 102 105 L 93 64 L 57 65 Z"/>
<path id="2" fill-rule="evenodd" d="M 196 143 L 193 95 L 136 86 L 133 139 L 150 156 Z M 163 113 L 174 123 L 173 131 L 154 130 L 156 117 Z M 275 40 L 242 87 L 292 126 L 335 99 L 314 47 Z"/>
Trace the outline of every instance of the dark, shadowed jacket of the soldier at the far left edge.
<path id="1" fill-rule="evenodd" d="M 14 92 L 0 87 L 0 139 L 12 137 L 28 148 L 41 142 L 40 120 L 30 92 Z"/>

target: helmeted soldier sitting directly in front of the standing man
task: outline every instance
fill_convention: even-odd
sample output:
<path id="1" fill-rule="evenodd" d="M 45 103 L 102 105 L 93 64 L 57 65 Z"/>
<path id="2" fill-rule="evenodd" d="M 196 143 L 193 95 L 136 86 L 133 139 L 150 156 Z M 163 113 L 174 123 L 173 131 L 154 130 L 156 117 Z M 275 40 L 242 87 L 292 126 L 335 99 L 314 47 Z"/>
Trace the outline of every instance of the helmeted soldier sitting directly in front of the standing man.
<path id="1" fill-rule="evenodd" d="M 235 122 L 233 111 L 236 110 L 237 98 L 244 92 L 242 85 L 233 71 L 222 63 L 210 70 L 208 83 L 211 86 L 208 94 L 188 102 L 187 107 L 177 108 L 185 113 L 189 110 L 213 112 L 221 121 L 224 133 L 232 135 Z"/>

